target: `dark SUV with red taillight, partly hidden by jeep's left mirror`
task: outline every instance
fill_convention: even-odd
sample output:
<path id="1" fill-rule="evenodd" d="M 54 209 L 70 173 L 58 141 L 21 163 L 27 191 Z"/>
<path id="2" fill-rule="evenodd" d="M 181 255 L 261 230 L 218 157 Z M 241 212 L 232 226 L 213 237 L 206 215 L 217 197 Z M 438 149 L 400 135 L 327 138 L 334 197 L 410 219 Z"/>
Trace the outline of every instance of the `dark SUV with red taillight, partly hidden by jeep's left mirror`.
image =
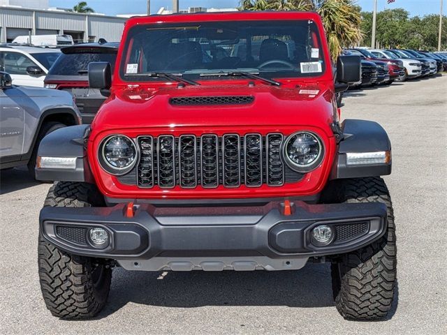
<path id="1" fill-rule="evenodd" d="M 108 61 L 113 70 L 118 45 L 119 43 L 85 43 L 62 47 L 61 57 L 45 77 L 47 89 L 68 91 L 75 97 L 84 124 L 91 124 L 106 98 L 99 89 L 89 88 L 89 63 Z"/>

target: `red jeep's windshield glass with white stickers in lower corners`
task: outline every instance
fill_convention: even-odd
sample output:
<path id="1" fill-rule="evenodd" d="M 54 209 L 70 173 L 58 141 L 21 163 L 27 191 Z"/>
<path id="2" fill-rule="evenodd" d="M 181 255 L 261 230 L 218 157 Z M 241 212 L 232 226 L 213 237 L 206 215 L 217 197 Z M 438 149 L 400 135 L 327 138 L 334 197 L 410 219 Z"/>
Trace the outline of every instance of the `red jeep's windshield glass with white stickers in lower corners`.
<path id="1" fill-rule="evenodd" d="M 138 25 L 123 50 L 120 76 L 131 81 L 166 80 L 150 73 L 216 80 L 220 73 L 315 77 L 325 70 L 318 27 L 309 20 Z"/>

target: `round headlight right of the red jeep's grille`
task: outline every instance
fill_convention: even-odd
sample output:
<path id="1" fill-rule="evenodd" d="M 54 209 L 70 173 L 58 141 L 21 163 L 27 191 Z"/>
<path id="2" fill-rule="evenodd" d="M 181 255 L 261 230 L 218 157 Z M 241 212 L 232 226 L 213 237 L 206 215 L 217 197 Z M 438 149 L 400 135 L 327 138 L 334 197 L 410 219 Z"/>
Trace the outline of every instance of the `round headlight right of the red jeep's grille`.
<path id="1" fill-rule="evenodd" d="M 323 160 L 323 144 L 314 133 L 300 131 L 287 137 L 283 154 L 292 170 L 309 172 Z"/>

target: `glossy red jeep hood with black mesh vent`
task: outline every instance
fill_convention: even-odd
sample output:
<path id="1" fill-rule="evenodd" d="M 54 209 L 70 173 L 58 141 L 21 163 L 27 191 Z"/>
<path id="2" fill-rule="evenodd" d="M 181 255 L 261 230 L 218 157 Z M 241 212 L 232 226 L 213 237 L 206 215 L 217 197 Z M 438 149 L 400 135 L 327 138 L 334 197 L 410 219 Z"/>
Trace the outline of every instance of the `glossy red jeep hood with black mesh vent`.
<path id="1" fill-rule="evenodd" d="M 219 103 L 219 97 L 249 97 L 242 103 Z M 184 103 L 182 98 L 207 98 Z M 174 99 L 173 98 L 180 98 Z M 216 103 L 216 99 L 218 103 Z M 212 103 L 210 103 L 210 101 Z M 179 102 L 179 104 L 178 104 Z M 258 83 L 203 84 L 183 88 L 142 85 L 115 88 L 101 106 L 94 131 L 124 128 L 318 126 L 328 131 L 337 111 L 332 82 L 276 87 Z M 98 129 L 98 127 L 101 128 Z"/>

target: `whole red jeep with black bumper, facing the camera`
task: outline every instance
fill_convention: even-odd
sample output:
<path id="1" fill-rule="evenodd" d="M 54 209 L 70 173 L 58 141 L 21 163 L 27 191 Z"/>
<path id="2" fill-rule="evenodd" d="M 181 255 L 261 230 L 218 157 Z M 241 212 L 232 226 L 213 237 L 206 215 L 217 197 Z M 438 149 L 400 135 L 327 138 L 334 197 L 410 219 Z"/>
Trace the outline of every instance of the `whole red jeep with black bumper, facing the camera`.
<path id="1" fill-rule="evenodd" d="M 297 270 L 330 262 L 344 318 L 384 318 L 396 280 L 386 132 L 339 121 L 360 57 L 332 63 L 316 13 L 131 18 L 91 126 L 54 131 L 38 179 L 39 274 L 51 313 L 101 311 L 113 267 Z M 337 82 L 337 84 L 335 84 Z"/>

